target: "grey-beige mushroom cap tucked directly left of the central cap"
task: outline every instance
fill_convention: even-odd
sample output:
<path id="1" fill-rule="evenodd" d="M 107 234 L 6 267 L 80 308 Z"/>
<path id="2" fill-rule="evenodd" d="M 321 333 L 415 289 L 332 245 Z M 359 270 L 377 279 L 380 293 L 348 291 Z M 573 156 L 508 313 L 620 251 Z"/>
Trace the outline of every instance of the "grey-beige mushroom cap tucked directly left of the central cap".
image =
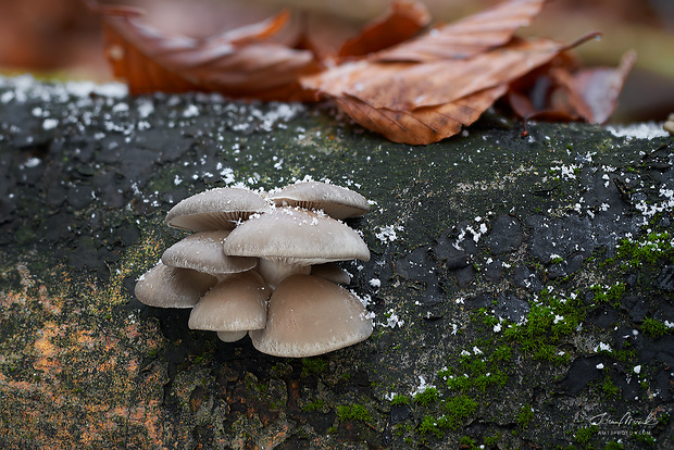
<path id="1" fill-rule="evenodd" d="M 162 262 L 172 267 L 191 268 L 212 275 L 253 268 L 258 263 L 254 258 L 227 257 L 223 252 L 223 243 L 228 235 L 227 229 L 189 235 L 168 247 L 162 254 Z"/>

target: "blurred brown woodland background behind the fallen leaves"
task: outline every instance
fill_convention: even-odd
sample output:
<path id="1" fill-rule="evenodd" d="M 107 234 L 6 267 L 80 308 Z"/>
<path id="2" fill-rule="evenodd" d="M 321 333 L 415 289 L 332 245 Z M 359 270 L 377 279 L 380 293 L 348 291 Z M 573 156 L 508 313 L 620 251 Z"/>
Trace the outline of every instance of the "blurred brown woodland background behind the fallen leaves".
<path id="1" fill-rule="evenodd" d="M 110 0 L 139 7 L 145 21 L 165 34 L 207 37 L 269 17 L 282 8 L 305 11 L 329 39 L 355 34 L 382 14 L 388 0 Z M 434 23 L 475 13 L 496 0 L 424 0 Z M 38 78 L 112 80 L 103 58 L 98 18 L 85 0 L 0 0 L 0 75 L 32 73 Z M 588 32 L 600 41 L 581 46 L 583 63 L 617 65 L 637 51 L 612 122 L 663 121 L 674 112 L 673 0 L 551 0 L 522 36 L 572 41 Z M 346 35 L 346 36 L 345 36 Z"/>

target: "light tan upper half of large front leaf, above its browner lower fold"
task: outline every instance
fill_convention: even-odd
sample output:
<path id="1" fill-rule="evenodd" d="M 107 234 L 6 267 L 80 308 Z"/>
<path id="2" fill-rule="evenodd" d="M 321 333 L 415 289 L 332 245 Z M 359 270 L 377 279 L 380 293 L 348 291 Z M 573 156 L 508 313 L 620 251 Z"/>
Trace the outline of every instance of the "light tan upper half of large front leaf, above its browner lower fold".
<path id="1" fill-rule="evenodd" d="M 549 39 L 514 40 L 467 60 L 424 63 L 358 61 L 302 77 L 308 89 L 349 95 L 373 108 L 405 111 L 447 104 L 521 77 L 554 58 L 565 45 Z"/>

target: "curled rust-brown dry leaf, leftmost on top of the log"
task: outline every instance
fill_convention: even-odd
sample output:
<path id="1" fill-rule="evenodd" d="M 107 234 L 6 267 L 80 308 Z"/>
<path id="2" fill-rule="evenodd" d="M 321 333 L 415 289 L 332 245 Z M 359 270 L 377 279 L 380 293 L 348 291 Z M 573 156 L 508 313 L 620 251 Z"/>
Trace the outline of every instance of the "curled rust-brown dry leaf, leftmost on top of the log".
<path id="1" fill-rule="evenodd" d="M 302 98 L 297 80 L 317 68 L 313 54 L 267 41 L 287 13 L 209 39 L 166 37 L 142 24 L 137 10 L 101 8 L 107 54 L 129 93 L 216 91 L 229 97 Z"/>

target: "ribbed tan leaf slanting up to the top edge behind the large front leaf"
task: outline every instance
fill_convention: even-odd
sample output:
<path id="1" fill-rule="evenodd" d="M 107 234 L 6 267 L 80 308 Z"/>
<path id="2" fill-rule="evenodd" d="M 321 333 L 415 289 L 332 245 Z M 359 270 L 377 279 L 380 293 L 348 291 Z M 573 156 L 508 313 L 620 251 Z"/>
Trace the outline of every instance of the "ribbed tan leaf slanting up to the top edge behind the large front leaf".
<path id="1" fill-rule="evenodd" d="M 371 57 L 375 61 L 464 59 L 508 42 L 538 15 L 546 0 L 510 0 L 458 22 L 432 29 Z"/>

